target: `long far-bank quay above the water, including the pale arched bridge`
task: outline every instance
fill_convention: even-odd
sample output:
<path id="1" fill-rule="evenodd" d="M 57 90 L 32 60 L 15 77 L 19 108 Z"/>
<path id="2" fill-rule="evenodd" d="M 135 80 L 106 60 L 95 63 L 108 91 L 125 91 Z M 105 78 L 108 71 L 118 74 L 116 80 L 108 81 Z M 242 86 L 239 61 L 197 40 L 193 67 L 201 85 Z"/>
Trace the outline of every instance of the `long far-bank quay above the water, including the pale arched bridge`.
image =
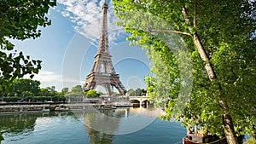
<path id="1" fill-rule="evenodd" d="M 84 101 L 48 101 L 48 102 L 2 102 L 0 103 L 0 114 L 1 113 L 13 113 L 13 112 L 49 112 L 55 111 L 55 107 L 60 104 L 65 104 L 71 110 L 82 110 L 87 107 L 102 107 L 106 104 L 102 104 L 103 101 L 107 100 L 107 104 L 113 104 L 114 102 L 129 101 L 131 104 L 139 104 L 140 106 L 148 106 L 148 96 L 119 96 L 119 97 L 105 97 L 105 98 L 94 98 L 86 99 Z"/>

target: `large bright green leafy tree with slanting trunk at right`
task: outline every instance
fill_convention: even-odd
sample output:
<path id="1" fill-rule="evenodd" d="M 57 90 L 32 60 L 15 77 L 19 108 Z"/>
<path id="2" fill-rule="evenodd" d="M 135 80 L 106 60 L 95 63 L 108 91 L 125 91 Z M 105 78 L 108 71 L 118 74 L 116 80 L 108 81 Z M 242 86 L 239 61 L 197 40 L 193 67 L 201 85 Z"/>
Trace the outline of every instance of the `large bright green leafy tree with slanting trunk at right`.
<path id="1" fill-rule="evenodd" d="M 160 58 L 165 64 L 154 66 L 168 73 L 152 71 L 156 72 L 155 79 L 169 81 L 174 92 L 166 95 L 166 118 L 183 119 L 184 125 L 207 124 L 210 133 L 220 136 L 224 130 L 232 144 L 238 143 L 236 135 L 255 133 L 255 3 L 113 0 L 115 14 L 121 19 L 119 25 L 131 33 L 127 39 L 146 48 L 151 60 Z M 175 34 L 183 39 L 161 38 Z M 179 42 L 189 49 L 194 83 L 184 111 L 175 112 L 180 96 L 177 90 L 189 83 L 177 67 L 185 66 L 181 61 L 186 58 L 180 56 L 185 50 L 176 46 Z M 154 89 L 157 85 L 154 81 Z"/>

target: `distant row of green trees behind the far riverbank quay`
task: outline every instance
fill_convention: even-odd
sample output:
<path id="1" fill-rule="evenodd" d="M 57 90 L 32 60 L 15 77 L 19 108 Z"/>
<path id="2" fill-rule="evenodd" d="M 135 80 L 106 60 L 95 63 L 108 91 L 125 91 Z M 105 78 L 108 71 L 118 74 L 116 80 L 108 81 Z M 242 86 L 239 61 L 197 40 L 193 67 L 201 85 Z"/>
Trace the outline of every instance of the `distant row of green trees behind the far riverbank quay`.
<path id="1" fill-rule="evenodd" d="M 74 86 L 71 91 L 67 87 L 61 89 L 61 92 L 49 87 L 40 88 L 38 80 L 30 78 L 16 78 L 9 90 L 0 94 L 0 99 L 5 102 L 44 102 L 44 101 L 66 101 L 66 97 L 99 97 L 104 95 L 101 91 L 90 89 L 85 91 L 81 85 Z M 129 96 L 146 95 L 146 89 L 129 89 Z M 113 95 L 119 95 L 113 92 Z"/>

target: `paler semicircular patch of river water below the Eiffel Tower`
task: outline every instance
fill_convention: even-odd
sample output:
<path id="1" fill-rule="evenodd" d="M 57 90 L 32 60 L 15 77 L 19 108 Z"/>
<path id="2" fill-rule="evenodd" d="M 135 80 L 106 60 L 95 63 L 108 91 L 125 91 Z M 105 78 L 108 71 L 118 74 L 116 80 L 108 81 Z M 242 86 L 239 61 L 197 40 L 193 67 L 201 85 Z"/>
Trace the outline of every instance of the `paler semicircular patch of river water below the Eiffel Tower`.
<path id="1" fill-rule="evenodd" d="M 90 129 L 109 135 L 124 135 L 142 130 L 161 114 L 160 111 L 154 108 L 124 107 L 101 111 L 87 108 L 73 113 Z"/>

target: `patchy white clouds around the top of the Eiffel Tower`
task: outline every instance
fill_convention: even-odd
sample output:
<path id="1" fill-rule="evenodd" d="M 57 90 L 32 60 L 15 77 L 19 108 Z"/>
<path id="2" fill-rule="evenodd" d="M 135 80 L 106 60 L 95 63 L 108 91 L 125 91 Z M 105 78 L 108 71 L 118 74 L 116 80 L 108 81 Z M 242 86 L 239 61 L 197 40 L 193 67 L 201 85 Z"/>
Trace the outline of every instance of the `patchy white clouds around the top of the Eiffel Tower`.
<path id="1" fill-rule="evenodd" d="M 92 42 L 100 35 L 102 21 L 102 4 L 104 0 L 59 0 L 59 4 L 64 6 L 61 14 L 69 18 L 74 24 L 74 29 Z M 109 45 L 119 40 L 124 34 L 123 28 L 115 26 L 117 18 L 113 14 L 112 3 L 108 3 L 108 39 Z"/>

